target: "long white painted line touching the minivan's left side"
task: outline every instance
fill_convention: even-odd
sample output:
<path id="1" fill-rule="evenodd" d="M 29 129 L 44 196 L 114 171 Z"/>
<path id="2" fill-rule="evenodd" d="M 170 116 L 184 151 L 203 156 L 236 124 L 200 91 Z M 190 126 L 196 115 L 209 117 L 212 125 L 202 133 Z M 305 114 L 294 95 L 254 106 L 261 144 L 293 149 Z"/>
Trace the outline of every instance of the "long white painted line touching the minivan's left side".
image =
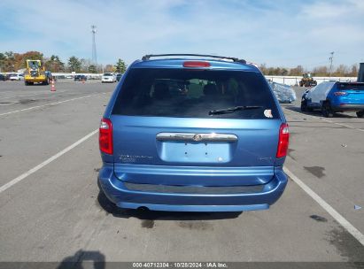
<path id="1" fill-rule="evenodd" d="M 85 142 L 86 140 L 89 139 L 89 137 L 91 137 L 92 135 L 97 134 L 97 132 L 98 132 L 98 129 L 96 129 L 95 131 L 92 131 L 91 133 L 89 133 L 89 135 L 83 136 L 79 141 L 74 142 L 72 145 L 66 147 L 65 150 L 59 151 L 57 154 L 55 154 L 52 157 L 50 157 L 50 158 L 46 159 L 45 161 L 43 161 L 43 163 L 41 163 L 39 165 L 36 165 L 32 169 L 29 169 L 26 173 L 22 173 L 17 178 L 13 179 L 12 181 L 7 182 L 6 184 L 4 184 L 3 186 L 0 187 L 0 194 L 3 191 L 5 191 L 6 189 L 11 188 L 13 185 L 18 183 L 19 181 L 24 180 L 25 178 L 27 178 L 27 176 L 31 175 L 32 173 L 37 172 L 39 169 L 43 168 L 45 165 L 48 165 L 52 161 L 54 161 L 55 159 L 61 157 L 62 155 L 64 155 L 69 150 L 74 149 L 74 147 L 77 147 L 79 144 L 81 144 L 81 142 Z"/>

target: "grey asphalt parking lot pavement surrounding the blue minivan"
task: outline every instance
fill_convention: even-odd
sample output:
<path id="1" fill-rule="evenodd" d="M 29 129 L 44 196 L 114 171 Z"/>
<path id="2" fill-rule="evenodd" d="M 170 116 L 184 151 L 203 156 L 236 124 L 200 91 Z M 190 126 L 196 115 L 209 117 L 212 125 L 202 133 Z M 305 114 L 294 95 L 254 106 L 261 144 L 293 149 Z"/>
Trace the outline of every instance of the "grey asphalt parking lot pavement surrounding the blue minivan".
<path id="1" fill-rule="evenodd" d="M 359 237 L 292 180 L 267 211 L 122 211 L 97 188 L 96 130 L 115 86 L 58 81 L 50 92 L 0 81 L 1 262 L 364 262 L 364 119 L 302 113 L 302 88 L 283 104 L 285 167 Z"/>

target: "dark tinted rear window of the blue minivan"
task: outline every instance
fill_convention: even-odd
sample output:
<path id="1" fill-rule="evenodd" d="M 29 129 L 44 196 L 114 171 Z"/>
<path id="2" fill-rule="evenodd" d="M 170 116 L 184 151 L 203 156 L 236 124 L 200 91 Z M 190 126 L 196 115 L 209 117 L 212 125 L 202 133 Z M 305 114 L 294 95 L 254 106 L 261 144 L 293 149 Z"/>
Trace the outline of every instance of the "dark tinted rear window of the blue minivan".
<path id="1" fill-rule="evenodd" d="M 128 116 L 278 119 L 274 97 L 260 73 L 136 68 L 128 72 L 113 114 Z M 236 106 L 258 109 L 209 115 Z"/>

